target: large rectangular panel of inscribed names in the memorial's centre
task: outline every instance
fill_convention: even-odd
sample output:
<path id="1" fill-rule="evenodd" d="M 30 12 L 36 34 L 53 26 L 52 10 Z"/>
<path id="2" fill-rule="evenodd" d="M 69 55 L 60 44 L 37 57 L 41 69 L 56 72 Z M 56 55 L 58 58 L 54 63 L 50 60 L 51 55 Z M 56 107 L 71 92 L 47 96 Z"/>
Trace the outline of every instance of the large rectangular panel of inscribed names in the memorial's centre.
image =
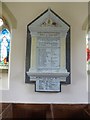
<path id="1" fill-rule="evenodd" d="M 60 67 L 60 38 L 38 38 L 37 67 L 57 69 Z"/>

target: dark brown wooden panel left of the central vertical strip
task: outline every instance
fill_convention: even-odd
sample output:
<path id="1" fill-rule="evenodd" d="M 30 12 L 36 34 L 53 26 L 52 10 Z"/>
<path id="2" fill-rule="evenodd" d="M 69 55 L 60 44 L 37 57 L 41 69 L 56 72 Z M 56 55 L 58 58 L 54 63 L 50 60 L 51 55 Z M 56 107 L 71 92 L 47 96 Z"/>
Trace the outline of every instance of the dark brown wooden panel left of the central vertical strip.
<path id="1" fill-rule="evenodd" d="M 13 104 L 14 119 L 46 120 L 49 104 Z"/>

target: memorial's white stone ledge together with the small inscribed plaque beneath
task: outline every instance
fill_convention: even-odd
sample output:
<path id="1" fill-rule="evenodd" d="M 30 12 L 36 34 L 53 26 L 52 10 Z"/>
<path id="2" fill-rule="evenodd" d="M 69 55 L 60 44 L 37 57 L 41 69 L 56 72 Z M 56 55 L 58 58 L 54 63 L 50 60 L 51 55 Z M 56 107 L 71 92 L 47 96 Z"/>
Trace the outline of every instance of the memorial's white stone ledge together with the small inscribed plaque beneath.
<path id="1" fill-rule="evenodd" d="M 61 82 L 66 81 L 66 69 L 32 69 L 27 72 L 31 82 L 35 82 L 36 92 L 61 92 Z"/>

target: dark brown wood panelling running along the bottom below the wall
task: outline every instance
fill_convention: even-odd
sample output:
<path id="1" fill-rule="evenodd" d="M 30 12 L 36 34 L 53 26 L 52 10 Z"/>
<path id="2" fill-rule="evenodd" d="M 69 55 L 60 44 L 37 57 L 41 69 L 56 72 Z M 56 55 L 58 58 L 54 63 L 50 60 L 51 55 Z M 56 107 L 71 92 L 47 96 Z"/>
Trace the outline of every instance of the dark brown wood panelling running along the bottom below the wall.
<path id="1" fill-rule="evenodd" d="M 3 103 L 1 120 L 89 120 L 90 104 Z"/>

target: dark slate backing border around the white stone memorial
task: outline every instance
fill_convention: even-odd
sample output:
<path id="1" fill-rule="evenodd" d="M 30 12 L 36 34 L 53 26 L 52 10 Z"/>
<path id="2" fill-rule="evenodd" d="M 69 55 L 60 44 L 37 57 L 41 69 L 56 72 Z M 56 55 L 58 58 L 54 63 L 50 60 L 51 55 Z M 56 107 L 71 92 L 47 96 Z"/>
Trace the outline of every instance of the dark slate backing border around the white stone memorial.
<path id="1" fill-rule="evenodd" d="M 51 9 L 50 9 L 51 10 Z M 29 30 L 29 26 L 35 22 L 37 19 L 39 19 L 43 14 L 45 14 L 48 10 L 46 10 L 44 13 L 42 13 L 39 17 L 37 17 L 34 21 L 32 21 L 30 24 L 27 25 L 27 44 L 26 44 L 26 66 L 25 66 L 25 83 L 33 83 L 30 81 L 30 77 L 27 75 L 27 72 L 30 68 L 30 56 L 31 56 L 31 33 Z M 71 83 L 71 59 L 70 59 L 70 25 L 66 23 L 61 17 L 59 17 L 54 11 L 51 10 L 53 14 L 55 14 L 60 20 L 62 20 L 68 27 L 69 30 L 67 32 L 66 36 L 66 69 L 70 73 L 68 77 L 66 78 L 66 81 L 61 81 L 61 84 L 70 84 Z"/>

